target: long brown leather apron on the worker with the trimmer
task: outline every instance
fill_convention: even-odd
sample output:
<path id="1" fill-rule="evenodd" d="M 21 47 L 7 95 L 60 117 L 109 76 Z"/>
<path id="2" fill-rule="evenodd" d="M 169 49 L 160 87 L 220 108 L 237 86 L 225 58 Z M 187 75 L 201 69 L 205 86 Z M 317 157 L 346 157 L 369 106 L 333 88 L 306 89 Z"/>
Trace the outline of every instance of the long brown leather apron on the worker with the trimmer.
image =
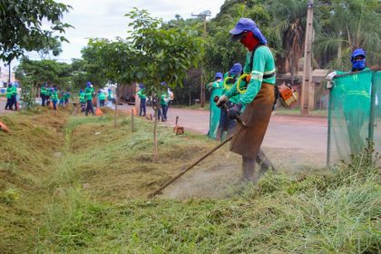
<path id="1" fill-rule="evenodd" d="M 259 93 L 246 106 L 241 116 L 248 126 L 243 128 L 240 124 L 236 125 L 236 130 L 230 143 L 230 151 L 250 159 L 256 159 L 260 145 L 268 130 L 274 101 L 275 84 L 262 83 Z"/>

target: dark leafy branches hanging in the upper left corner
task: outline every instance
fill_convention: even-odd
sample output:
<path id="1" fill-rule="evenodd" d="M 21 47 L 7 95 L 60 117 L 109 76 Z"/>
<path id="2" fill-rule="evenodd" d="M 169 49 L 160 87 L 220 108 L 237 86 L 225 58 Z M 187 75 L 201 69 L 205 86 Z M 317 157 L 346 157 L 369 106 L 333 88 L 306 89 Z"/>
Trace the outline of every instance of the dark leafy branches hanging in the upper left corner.
<path id="1" fill-rule="evenodd" d="M 62 35 L 70 24 L 61 22 L 70 5 L 53 0 L 0 0 L 0 59 L 10 63 L 26 51 L 40 51 L 52 40 L 67 42 Z M 51 24 L 44 29 L 44 22 Z"/>

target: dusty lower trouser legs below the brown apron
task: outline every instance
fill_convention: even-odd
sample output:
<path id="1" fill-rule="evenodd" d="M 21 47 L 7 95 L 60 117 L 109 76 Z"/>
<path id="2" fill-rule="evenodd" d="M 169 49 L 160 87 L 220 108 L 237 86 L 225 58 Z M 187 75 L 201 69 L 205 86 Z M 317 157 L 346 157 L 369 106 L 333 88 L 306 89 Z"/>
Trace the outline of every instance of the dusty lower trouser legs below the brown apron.
<path id="1" fill-rule="evenodd" d="M 255 174 L 255 163 L 259 164 L 259 172 Z M 244 181 L 257 182 L 259 178 L 271 169 L 275 171 L 274 165 L 266 157 L 266 154 L 259 149 L 256 159 L 250 159 L 249 157 L 242 156 L 242 178 Z"/>

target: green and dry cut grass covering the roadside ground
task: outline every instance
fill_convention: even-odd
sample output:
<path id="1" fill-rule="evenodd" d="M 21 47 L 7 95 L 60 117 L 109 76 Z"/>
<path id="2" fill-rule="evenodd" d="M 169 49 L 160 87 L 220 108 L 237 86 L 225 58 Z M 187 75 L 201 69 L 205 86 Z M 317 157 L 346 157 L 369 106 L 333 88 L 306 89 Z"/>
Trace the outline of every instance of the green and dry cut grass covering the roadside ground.
<path id="1" fill-rule="evenodd" d="M 380 174 L 360 158 L 334 171 L 269 173 L 258 185 L 237 185 L 220 199 L 148 200 L 216 142 L 161 127 L 160 160 L 152 161 L 150 122 L 135 119 L 132 132 L 128 116 L 117 128 L 107 114 L 54 117 L 5 119 L 15 135 L 0 133 L 6 141 L 0 165 L 9 180 L 0 189 L 2 253 L 381 251 Z M 35 130 L 43 119 L 44 128 Z M 21 122 L 26 128 L 17 127 Z M 50 128 L 54 122 L 60 124 Z M 23 157 L 26 146 L 18 151 L 24 159 L 11 156 L 12 142 L 50 135 L 56 141 L 36 145 L 36 158 Z M 219 167 L 234 159 L 225 151 L 216 156 L 203 163 Z"/>

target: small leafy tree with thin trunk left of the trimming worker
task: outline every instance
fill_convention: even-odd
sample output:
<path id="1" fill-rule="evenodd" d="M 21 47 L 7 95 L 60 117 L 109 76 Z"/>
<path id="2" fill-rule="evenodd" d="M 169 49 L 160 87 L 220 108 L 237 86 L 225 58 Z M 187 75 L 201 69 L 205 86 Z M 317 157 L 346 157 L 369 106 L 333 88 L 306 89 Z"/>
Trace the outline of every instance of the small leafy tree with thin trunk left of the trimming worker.
<path id="1" fill-rule="evenodd" d="M 144 83 L 149 96 L 158 97 L 163 92 L 161 82 L 172 88 L 182 85 L 187 71 L 196 66 L 201 54 L 202 39 L 191 30 L 175 26 L 165 28 L 162 20 L 151 17 L 146 10 L 134 8 L 127 17 L 132 19 L 129 26 L 134 65 L 125 70 L 125 75 L 139 83 Z M 155 107 L 155 115 L 157 115 Z M 153 127 L 154 156 L 158 159 L 157 117 Z"/>

